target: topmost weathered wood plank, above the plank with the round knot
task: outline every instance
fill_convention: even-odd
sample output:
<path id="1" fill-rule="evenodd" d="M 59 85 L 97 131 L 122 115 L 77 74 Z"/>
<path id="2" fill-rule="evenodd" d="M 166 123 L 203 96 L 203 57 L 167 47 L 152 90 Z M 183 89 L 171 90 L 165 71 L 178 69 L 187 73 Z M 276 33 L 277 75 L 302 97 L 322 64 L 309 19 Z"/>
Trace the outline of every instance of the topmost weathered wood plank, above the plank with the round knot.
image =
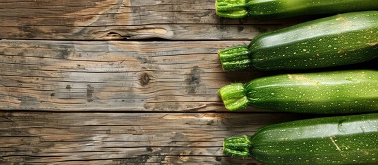
<path id="1" fill-rule="evenodd" d="M 0 1 L 0 39 L 249 40 L 313 17 L 222 19 L 213 0 Z"/>

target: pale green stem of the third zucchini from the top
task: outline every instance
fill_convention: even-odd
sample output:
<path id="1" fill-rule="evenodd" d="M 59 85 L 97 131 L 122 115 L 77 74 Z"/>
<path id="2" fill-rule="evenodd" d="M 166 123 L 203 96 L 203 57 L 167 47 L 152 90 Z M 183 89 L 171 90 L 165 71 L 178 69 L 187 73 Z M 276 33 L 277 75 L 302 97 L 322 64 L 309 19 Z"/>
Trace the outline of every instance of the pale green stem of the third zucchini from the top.
<path id="1" fill-rule="evenodd" d="M 229 111 L 235 111 L 246 107 L 249 100 L 242 83 L 226 85 L 218 90 L 218 94 Z"/>

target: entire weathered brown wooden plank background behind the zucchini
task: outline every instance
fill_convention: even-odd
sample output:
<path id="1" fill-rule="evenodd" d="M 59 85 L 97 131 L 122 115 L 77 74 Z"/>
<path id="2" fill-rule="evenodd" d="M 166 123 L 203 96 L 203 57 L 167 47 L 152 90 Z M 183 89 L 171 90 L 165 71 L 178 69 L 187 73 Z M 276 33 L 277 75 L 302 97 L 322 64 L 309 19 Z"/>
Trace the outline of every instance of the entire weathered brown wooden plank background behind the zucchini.
<path id="1" fill-rule="evenodd" d="M 218 49 L 315 19 L 222 19 L 213 0 L 0 1 L 0 164 L 257 164 L 222 139 L 312 118 L 249 107 Z"/>

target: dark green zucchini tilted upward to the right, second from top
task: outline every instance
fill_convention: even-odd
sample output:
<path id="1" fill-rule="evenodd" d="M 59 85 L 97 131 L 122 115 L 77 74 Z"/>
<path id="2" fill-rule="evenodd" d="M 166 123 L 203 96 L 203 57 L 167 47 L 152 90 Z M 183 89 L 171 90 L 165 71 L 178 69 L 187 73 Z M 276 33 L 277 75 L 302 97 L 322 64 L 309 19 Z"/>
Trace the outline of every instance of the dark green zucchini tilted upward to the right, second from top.
<path id="1" fill-rule="evenodd" d="M 256 36 L 218 52 L 224 71 L 311 69 L 378 58 L 378 11 L 350 12 Z"/>

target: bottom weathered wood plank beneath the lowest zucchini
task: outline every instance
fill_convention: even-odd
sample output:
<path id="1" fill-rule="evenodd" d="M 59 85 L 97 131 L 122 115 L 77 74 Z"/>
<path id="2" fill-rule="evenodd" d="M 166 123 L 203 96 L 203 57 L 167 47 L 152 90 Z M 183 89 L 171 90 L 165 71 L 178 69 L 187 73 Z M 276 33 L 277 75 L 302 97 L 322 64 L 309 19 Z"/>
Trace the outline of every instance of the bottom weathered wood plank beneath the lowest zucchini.
<path id="1" fill-rule="evenodd" d="M 223 155 L 222 139 L 309 117 L 289 113 L 0 112 L 0 164 L 255 163 Z"/>

